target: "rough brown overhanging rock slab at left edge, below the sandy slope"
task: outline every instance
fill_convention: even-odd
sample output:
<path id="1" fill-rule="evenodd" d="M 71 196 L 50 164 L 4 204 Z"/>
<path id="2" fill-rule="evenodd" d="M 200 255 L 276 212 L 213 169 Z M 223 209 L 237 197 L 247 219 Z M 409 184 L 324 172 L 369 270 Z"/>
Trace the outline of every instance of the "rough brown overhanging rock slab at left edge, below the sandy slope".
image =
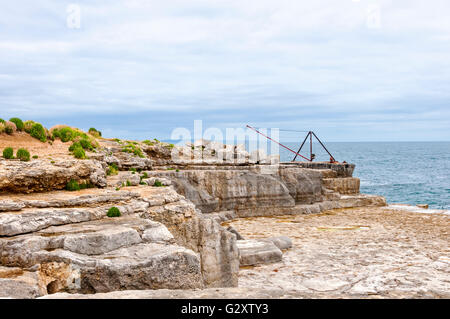
<path id="1" fill-rule="evenodd" d="M 0 160 L 0 192 L 32 193 L 63 189 L 71 180 L 106 186 L 102 164 L 91 160 L 31 162 Z"/>

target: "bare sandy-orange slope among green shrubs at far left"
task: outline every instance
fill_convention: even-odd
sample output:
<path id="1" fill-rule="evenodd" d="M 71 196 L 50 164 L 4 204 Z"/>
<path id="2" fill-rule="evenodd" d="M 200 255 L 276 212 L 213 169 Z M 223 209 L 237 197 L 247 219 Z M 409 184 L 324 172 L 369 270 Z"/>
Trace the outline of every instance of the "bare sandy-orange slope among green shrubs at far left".
<path id="1" fill-rule="evenodd" d="M 69 152 L 70 142 L 63 143 L 60 140 L 55 140 L 52 143 L 53 145 L 48 142 L 42 143 L 24 132 L 16 132 L 13 135 L 0 134 L 0 156 L 3 149 L 12 147 L 14 154 L 19 148 L 25 148 L 31 156 L 37 155 L 42 159 L 73 158 Z"/>

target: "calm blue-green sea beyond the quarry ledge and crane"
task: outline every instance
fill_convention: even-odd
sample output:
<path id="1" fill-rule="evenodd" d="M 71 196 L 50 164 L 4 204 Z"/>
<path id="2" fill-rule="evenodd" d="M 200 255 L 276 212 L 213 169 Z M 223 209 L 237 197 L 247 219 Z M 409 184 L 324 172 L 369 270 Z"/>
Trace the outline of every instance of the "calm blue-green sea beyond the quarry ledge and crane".
<path id="1" fill-rule="evenodd" d="M 298 143 L 286 143 L 297 151 Z M 361 192 L 385 196 L 389 203 L 429 204 L 450 209 L 450 142 L 326 143 L 338 161 L 356 164 Z M 317 160 L 329 156 L 314 144 Z M 282 161 L 292 153 L 280 147 Z M 302 155 L 309 154 L 306 145 Z M 292 154 L 293 155 L 293 154 Z"/>

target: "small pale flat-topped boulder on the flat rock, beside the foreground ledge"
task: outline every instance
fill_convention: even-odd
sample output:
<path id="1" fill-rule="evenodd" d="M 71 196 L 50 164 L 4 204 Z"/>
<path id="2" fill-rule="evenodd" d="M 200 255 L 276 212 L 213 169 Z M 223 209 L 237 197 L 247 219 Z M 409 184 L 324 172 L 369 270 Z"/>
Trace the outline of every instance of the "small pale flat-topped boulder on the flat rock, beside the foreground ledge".
<path id="1" fill-rule="evenodd" d="M 238 240 L 240 266 L 256 266 L 281 261 L 283 253 L 271 241 Z"/>

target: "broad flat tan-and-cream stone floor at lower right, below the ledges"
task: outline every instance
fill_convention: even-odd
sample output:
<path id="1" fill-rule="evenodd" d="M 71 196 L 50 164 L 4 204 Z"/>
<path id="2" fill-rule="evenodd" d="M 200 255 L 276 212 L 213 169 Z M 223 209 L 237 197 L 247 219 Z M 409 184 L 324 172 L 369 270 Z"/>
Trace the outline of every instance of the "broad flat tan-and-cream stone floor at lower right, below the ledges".
<path id="1" fill-rule="evenodd" d="M 240 287 L 314 297 L 450 298 L 449 216 L 359 208 L 238 219 L 246 239 L 289 236 L 283 261 L 242 268 Z"/>

